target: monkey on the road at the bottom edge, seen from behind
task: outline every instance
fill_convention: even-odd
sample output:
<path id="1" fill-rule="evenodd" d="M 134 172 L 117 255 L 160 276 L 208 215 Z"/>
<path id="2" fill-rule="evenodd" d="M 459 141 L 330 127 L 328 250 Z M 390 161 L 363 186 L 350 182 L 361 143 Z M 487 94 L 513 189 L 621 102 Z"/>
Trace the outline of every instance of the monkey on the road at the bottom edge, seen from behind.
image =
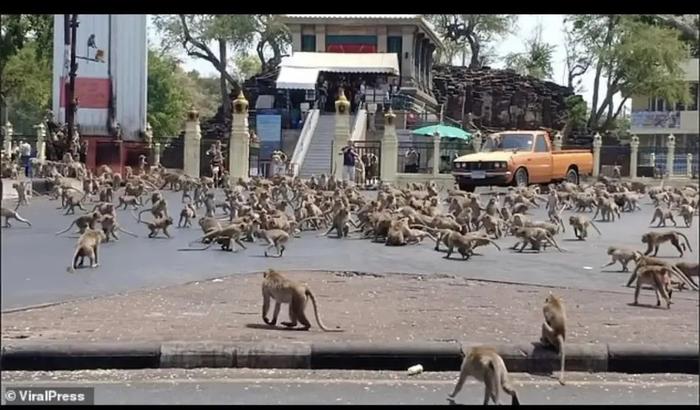
<path id="1" fill-rule="evenodd" d="M 520 404 L 518 393 L 510 384 L 508 369 L 496 350 L 487 346 L 477 346 L 467 354 L 462 351 L 462 356 L 464 359 L 459 371 L 459 379 L 452 393 L 448 395 L 448 400 L 454 399 L 462 390 L 467 378 L 473 376 L 484 383 L 484 406 L 489 403 L 489 399 L 496 405 L 501 404 L 499 400 L 501 388 L 511 396 L 511 405 Z"/>

